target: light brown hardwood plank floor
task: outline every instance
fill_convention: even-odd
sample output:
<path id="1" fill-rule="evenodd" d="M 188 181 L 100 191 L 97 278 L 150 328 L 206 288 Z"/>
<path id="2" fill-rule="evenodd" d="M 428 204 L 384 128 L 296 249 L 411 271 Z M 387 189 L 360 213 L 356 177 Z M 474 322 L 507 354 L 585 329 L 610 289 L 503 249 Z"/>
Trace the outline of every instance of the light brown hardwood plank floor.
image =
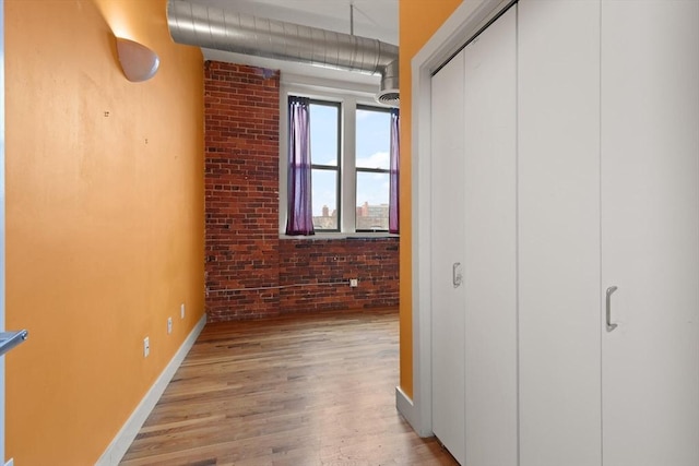
<path id="1" fill-rule="evenodd" d="M 122 465 L 457 465 L 395 409 L 398 311 L 208 324 Z"/>

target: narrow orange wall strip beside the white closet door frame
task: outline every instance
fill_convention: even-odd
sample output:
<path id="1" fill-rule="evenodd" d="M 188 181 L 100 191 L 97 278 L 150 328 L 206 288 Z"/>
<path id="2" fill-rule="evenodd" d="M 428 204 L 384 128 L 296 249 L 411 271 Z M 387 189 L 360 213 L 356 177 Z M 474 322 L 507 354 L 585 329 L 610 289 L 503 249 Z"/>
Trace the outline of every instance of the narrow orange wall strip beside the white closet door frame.
<path id="1" fill-rule="evenodd" d="M 467 1 L 467 0 L 465 0 Z M 460 0 L 400 0 L 401 76 L 401 389 L 413 397 L 413 271 L 411 193 L 411 60 L 429 40 Z"/>

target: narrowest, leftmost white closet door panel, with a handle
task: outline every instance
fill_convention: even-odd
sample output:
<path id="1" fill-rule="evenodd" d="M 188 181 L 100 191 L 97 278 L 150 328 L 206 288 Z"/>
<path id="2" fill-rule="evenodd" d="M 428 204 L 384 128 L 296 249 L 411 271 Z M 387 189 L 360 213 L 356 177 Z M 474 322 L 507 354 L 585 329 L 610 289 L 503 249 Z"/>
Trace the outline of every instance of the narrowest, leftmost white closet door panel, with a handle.
<path id="1" fill-rule="evenodd" d="M 464 464 L 463 52 L 431 81 L 433 431 Z M 460 265 L 457 265 L 460 264 Z"/>

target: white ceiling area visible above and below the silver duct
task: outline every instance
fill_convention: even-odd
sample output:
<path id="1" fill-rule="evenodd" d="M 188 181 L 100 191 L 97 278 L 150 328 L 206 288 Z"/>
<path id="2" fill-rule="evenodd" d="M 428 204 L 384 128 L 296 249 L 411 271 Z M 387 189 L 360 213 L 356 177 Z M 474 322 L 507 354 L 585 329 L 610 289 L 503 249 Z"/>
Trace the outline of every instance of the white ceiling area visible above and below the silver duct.
<path id="1" fill-rule="evenodd" d="M 398 45 L 399 0 L 189 0 L 223 10 L 270 20 L 320 27 Z M 353 21 L 351 22 L 351 5 Z M 321 69 L 308 64 L 202 49 L 204 59 L 282 70 L 282 75 L 311 76 L 357 84 L 378 85 L 379 76 Z"/>

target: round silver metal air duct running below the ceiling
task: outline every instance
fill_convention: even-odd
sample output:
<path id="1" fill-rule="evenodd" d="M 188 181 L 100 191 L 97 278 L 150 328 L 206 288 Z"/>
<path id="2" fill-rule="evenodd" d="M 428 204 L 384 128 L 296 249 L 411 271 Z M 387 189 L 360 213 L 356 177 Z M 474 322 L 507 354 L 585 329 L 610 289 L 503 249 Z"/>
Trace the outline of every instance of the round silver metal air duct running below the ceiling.
<path id="1" fill-rule="evenodd" d="M 167 24 L 178 44 L 380 74 L 378 101 L 399 105 L 398 47 L 377 39 L 169 0 Z"/>

